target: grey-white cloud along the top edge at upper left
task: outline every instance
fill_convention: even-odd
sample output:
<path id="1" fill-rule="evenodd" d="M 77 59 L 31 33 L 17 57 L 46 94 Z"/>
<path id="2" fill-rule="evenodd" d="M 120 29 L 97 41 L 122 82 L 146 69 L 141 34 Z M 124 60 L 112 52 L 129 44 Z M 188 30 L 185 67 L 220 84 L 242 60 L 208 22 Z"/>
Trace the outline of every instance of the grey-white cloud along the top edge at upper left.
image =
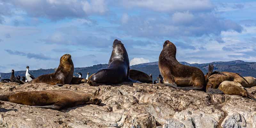
<path id="1" fill-rule="evenodd" d="M 10 0 L 8 3 L 14 5 L 16 9 L 23 10 L 29 16 L 51 20 L 85 18 L 91 14 L 103 14 L 107 11 L 104 0 Z"/>

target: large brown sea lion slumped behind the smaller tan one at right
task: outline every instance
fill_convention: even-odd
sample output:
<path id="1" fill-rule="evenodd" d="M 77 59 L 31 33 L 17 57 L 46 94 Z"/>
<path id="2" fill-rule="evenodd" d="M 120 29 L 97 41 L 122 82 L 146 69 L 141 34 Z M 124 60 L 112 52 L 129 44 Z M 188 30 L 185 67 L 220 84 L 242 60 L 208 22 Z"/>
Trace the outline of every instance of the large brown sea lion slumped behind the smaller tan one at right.
<path id="1" fill-rule="evenodd" d="M 219 89 L 219 85 L 224 81 L 234 81 L 240 83 L 243 87 L 246 87 L 249 83 L 248 81 L 240 76 L 237 73 L 233 72 L 221 72 L 219 73 L 212 73 L 212 75 L 208 78 L 208 82 L 206 85 L 206 92 L 207 93 L 220 93 L 223 94 L 223 90 Z M 224 86 L 225 84 L 222 84 Z M 230 85 L 230 84 L 228 84 Z M 223 88 L 223 87 L 222 87 Z M 230 90 L 232 92 L 233 90 Z M 230 94 L 230 92 L 227 92 L 227 89 L 225 89 L 225 94 Z M 236 93 L 236 92 L 234 92 Z M 236 94 L 238 95 L 238 94 Z"/>

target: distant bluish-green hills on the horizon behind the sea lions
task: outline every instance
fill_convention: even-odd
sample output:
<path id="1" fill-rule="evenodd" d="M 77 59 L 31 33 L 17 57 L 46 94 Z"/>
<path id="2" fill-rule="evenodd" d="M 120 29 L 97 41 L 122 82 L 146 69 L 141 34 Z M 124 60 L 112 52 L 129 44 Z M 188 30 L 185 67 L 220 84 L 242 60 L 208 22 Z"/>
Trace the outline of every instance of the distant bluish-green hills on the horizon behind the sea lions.
<path id="1" fill-rule="evenodd" d="M 203 64 L 189 64 L 187 62 L 180 62 L 181 64 L 193 66 L 201 69 L 204 74 L 208 71 L 208 65 L 209 63 L 203 63 Z M 240 73 L 242 76 L 253 76 L 256 77 L 256 62 L 244 62 L 242 60 L 235 60 L 235 61 L 218 61 L 218 62 L 212 62 L 211 64 L 214 65 L 214 70 L 218 71 L 227 71 L 227 72 L 235 72 Z M 97 71 L 107 68 L 108 64 L 98 64 L 93 65 L 91 67 L 84 67 L 84 68 L 75 68 L 74 73 L 81 72 L 83 74 L 83 78 L 86 77 L 87 72 L 91 74 L 96 73 Z M 156 79 L 158 74 L 160 74 L 158 69 L 158 62 L 150 62 L 150 63 L 144 63 L 144 64 L 138 64 L 131 66 L 131 69 L 136 69 L 143 71 L 147 74 L 152 74 L 153 79 Z M 38 70 L 31 70 L 29 71 L 33 76 L 41 76 L 44 74 L 53 73 L 54 69 L 38 69 Z M 15 75 L 25 76 L 26 71 L 15 71 Z M 78 76 L 77 74 L 74 74 Z M 1 73 L 2 78 L 10 78 L 11 73 Z"/>

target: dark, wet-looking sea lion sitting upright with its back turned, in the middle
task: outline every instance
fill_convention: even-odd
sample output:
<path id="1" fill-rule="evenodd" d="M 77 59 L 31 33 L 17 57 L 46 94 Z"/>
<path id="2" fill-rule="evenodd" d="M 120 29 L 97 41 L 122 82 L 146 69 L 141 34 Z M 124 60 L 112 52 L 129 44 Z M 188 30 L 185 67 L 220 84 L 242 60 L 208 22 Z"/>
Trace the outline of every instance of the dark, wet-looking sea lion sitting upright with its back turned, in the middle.
<path id="1" fill-rule="evenodd" d="M 135 82 L 134 80 L 130 79 L 129 72 L 130 62 L 128 54 L 126 52 L 124 44 L 116 39 L 113 42 L 113 51 L 108 62 L 108 68 L 102 69 L 92 75 L 92 77 L 88 81 L 88 84 L 118 84 L 125 81 Z"/>

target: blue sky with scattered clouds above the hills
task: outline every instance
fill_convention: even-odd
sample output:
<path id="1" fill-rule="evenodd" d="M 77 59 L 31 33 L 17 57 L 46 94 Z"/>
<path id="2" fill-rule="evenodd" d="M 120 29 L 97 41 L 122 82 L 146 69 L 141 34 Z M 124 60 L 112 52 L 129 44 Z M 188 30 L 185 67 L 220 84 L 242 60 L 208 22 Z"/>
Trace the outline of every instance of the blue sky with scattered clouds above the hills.
<path id="1" fill-rule="evenodd" d="M 108 63 L 115 39 L 130 65 L 158 61 L 165 40 L 188 63 L 256 61 L 255 0 L 0 0 L 0 72 Z"/>

